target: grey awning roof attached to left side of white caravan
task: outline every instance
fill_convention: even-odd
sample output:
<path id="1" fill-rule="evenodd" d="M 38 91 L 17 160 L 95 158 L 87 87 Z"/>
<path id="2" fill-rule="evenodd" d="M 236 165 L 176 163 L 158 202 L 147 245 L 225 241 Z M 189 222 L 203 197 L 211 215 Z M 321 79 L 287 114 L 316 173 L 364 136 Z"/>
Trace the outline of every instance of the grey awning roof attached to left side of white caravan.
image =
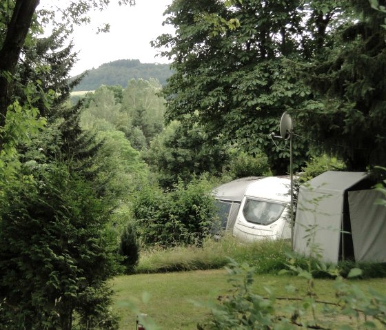
<path id="1" fill-rule="evenodd" d="M 235 200 L 241 202 L 245 189 L 252 182 L 256 182 L 263 176 L 248 176 L 247 178 L 238 178 L 237 180 L 224 183 L 223 185 L 213 189 L 214 197 L 221 200 Z"/>

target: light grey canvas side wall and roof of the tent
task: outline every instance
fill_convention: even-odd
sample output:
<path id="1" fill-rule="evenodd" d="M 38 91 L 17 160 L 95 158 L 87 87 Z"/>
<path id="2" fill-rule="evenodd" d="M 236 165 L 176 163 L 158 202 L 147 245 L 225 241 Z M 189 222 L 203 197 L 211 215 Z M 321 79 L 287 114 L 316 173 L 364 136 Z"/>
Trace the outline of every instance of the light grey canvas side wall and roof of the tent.
<path id="1" fill-rule="evenodd" d="M 327 171 L 301 185 L 294 227 L 294 250 L 306 256 L 321 253 L 338 262 L 345 192 L 367 178 L 364 172 Z"/>

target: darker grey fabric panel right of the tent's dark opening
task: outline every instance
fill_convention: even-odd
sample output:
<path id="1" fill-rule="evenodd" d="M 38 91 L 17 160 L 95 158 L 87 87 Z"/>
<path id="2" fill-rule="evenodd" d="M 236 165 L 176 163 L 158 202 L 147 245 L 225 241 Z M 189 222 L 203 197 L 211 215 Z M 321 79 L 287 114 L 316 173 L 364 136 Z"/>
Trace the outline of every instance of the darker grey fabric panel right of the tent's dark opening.
<path id="1" fill-rule="evenodd" d="M 382 197 L 376 190 L 348 193 L 356 261 L 386 262 L 386 207 L 374 204 Z"/>

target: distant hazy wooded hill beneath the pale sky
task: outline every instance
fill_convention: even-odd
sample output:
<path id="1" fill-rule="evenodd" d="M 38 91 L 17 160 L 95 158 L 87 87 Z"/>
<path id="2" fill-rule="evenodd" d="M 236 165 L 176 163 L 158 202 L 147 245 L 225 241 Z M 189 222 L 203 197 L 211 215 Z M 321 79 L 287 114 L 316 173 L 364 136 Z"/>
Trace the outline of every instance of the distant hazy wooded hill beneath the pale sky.
<path id="1" fill-rule="evenodd" d="M 172 74 L 168 64 L 141 63 L 137 59 L 121 59 L 104 63 L 97 69 L 88 71 L 87 76 L 74 88 L 74 91 L 96 90 L 101 85 L 128 85 L 130 79 L 158 79 L 165 85 Z"/>

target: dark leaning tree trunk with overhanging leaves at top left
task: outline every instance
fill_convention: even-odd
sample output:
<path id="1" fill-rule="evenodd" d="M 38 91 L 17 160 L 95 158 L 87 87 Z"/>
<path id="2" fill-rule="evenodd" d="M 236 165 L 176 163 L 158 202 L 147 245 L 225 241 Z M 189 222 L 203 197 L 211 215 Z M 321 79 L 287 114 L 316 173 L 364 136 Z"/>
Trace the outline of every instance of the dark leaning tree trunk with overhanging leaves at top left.
<path id="1" fill-rule="evenodd" d="M 49 21 L 50 15 L 54 15 L 53 10 L 37 11 L 39 0 L 23 1 L 10 0 L 6 6 L 1 7 L 1 24 L 0 34 L 2 37 L 0 43 L 0 151 L 6 143 L 6 121 L 9 107 L 13 104 L 13 109 L 17 106 L 17 101 L 13 99 L 14 85 L 18 79 L 15 76 L 17 72 L 17 64 L 19 63 L 21 50 L 30 40 L 28 35 L 41 32 L 39 28 L 39 19 Z M 120 3 L 134 3 L 133 0 L 122 0 Z M 85 23 L 88 21 L 87 12 L 91 8 L 105 8 L 110 1 L 85 1 L 79 0 L 70 3 L 69 8 L 65 8 L 63 13 L 63 23 L 56 23 L 58 30 L 65 28 L 71 32 L 74 24 Z M 55 23 L 55 21 L 54 21 Z M 101 29 L 106 30 L 106 29 Z M 37 84 L 37 82 L 32 82 Z M 28 94 L 28 90 L 26 93 Z M 32 94 L 30 92 L 30 94 Z M 28 106 L 27 109 L 28 110 Z M 36 112 L 32 113 L 37 116 Z"/>

